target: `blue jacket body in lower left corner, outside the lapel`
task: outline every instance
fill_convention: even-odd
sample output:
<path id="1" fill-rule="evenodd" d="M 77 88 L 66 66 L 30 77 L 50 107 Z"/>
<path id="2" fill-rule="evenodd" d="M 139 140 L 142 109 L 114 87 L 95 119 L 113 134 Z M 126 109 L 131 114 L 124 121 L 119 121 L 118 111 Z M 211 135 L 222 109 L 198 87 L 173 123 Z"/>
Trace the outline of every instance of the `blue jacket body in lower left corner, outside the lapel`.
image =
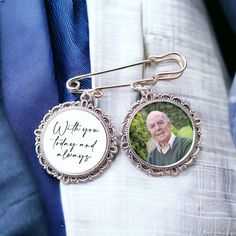
<path id="1" fill-rule="evenodd" d="M 49 235 L 32 173 L 8 125 L 1 101 L 0 160 L 0 235 Z"/>

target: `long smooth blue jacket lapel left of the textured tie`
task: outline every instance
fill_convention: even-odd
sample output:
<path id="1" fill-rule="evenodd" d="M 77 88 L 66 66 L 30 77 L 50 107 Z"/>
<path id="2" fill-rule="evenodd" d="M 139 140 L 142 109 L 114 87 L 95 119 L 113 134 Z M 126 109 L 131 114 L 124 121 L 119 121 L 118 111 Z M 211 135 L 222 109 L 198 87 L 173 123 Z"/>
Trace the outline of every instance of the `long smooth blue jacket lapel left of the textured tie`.
<path id="1" fill-rule="evenodd" d="M 58 104 L 44 1 L 1 2 L 1 76 L 4 110 L 37 181 L 49 233 L 65 235 L 59 181 L 47 175 L 34 150 L 35 128 Z M 12 217 L 9 230 L 14 224 Z"/>

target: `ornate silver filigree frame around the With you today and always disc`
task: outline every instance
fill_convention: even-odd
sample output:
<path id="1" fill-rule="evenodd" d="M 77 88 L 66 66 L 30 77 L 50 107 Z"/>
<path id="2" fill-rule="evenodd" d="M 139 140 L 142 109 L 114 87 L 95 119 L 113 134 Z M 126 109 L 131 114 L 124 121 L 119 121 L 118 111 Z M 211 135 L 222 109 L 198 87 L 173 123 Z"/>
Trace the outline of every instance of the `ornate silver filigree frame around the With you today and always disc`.
<path id="1" fill-rule="evenodd" d="M 50 120 L 54 116 L 56 116 L 58 112 L 71 108 L 84 110 L 96 116 L 96 118 L 103 124 L 107 136 L 107 146 L 104 155 L 101 158 L 101 161 L 92 169 L 79 175 L 69 175 L 57 171 L 48 161 L 42 148 L 42 137 L 47 123 L 50 122 Z M 104 170 L 110 166 L 111 162 L 114 159 L 114 155 L 118 152 L 115 129 L 111 123 L 110 118 L 100 108 L 93 106 L 90 99 L 82 99 L 82 101 L 78 102 L 66 102 L 53 107 L 43 117 L 38 129 L 36 129 L 34 133 L 36 136 L 35 151 L 37 153 L 39 163 L 43 166 L 43 168 L 47 171 L 48 174 L 52 175 L 53 177 L 56 177 L 64 183 L 87 182 L 100 176 L 104 172 Z"/>

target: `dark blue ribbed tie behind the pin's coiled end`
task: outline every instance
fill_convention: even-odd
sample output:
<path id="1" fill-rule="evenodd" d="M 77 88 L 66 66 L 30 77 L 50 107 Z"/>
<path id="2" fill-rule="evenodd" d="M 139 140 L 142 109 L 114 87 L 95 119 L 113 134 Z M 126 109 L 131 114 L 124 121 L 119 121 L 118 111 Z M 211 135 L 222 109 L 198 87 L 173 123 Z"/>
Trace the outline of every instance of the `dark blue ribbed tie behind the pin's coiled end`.
<path id="1" fill-rule="evenodd" d="M 66 89 L 66 81 L 90 72 L 89 32 L 85 0 L 48 0 L 48 21 L 61 102 L 76 100 Z M 91 79 L 82 80 L 81 88 L 91 88 Z"/>

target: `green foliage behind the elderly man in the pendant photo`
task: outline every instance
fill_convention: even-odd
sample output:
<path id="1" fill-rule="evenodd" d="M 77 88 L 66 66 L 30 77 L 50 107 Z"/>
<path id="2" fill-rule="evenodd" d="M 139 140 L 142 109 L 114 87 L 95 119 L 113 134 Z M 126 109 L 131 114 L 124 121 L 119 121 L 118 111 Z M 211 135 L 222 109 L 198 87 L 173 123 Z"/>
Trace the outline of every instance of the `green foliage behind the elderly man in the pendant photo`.
<path id="1" fill-rule="evenodd" d="M 146 126 L 146 119 L 151 111 L 164 112 L 169 117 L 172 124 L 171 131 L 176 136 L 193 139 L 192 122 L 181 108 L 169 102 L 156 102 L 147 105 L 136 113 L 129 131 L 132 148 L 143 160 L 146 161 L 148 151 L 151 151 L 155 146 Z"/>

